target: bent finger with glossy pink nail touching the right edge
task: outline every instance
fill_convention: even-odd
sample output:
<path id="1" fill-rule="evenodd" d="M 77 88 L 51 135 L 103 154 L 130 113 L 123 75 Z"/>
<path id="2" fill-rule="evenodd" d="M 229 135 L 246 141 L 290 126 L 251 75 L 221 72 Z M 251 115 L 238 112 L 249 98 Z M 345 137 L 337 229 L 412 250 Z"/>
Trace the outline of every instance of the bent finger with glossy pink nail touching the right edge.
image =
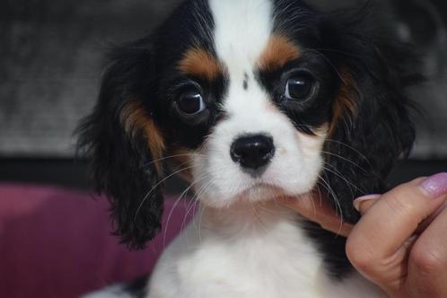
<path id="1" fill-rule="evenodd" d="M 357 268 L 372 269 L 386 263 L 419 223 L 443 205 L 446 192 L 447 174 L 443 173 L 384 194 L 355 225 L 346 246 L 348 257 Z"/>

